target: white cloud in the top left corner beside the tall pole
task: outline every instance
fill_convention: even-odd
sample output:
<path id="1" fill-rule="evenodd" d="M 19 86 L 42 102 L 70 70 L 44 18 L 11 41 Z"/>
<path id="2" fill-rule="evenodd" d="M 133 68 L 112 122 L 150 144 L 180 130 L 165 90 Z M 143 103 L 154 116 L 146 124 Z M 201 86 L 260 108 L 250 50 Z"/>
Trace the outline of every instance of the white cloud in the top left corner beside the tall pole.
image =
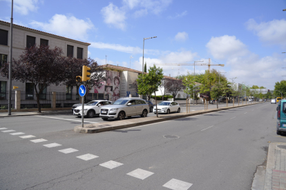
<path id="1" fill-rule="evenodd" d="M 11 5 L 11 0 L 0 0 L 6 1 Z M 37 11 L 38 0 L 15 0 L 13 1 L 13 9 L 19 14 L 27 15 L 29 12 Z"/>

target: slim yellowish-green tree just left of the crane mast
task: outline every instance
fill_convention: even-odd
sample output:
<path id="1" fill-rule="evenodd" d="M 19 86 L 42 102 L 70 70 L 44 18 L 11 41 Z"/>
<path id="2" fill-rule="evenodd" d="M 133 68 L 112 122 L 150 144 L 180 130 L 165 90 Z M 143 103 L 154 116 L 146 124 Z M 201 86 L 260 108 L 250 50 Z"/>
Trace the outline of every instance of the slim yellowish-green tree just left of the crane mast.
<path id="1" fill-rule="evenodd" d="M 196 85 L 196 76 L 193 76 L 193 74 L 188 72 L 188 74 L 184 76 L 182 83 L 185 87 L 184 93 L 190 96 L 193 94 L 194 97 L 191 97 L 193 97 L 198 104 L 198 100 L 200 99 L 200 97 L 198 97 L 198 94 L 200 93 L 200 87 Z"/>

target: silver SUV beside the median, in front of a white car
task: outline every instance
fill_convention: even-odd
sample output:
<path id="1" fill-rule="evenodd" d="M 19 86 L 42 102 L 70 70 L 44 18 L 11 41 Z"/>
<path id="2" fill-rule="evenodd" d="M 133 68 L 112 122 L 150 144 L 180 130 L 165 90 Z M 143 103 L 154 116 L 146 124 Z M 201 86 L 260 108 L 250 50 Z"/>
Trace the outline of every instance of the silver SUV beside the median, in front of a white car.
<path id="1" fill-rule="evenodd" d="M 103 120 L 115 118 L 122 120 L 126 116 L 146 117 L 149 113 L 149 105 L 142 98 L 119 98 L 112 105 L 101 107 L 99 117 Z"/>

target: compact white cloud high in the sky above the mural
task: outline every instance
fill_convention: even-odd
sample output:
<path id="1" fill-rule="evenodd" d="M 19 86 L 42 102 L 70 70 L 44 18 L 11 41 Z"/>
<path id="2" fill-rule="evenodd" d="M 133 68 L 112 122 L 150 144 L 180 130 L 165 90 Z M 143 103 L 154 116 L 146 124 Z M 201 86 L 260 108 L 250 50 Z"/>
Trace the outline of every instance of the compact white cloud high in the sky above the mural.
<path id="1" fill-rule="evenodd" d="M 120 10 L 120 8 L 113 5 L 113 3 L 109 3 L 108 6 L 102 8 L 101 13 L 102 16 L 104 17 L 104 23 L 111 25 L 115 28 L 118 28 L 120 30 L 125 30 L 126 13 L 123 10 Z"/>

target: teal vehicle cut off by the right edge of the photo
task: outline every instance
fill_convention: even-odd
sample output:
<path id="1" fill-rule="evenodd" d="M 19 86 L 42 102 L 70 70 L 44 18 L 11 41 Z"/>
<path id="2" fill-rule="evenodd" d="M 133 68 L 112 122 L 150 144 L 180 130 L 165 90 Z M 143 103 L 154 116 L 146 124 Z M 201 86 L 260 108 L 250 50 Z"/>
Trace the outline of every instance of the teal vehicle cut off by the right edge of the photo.
<path id="1" fill-rule="evenodd" d="M 276 111 L 277 111 L 276 134 L 280 135 L 282 132 L 286 131 L 286 100 L 280 100 L 278 102 Z"/>

